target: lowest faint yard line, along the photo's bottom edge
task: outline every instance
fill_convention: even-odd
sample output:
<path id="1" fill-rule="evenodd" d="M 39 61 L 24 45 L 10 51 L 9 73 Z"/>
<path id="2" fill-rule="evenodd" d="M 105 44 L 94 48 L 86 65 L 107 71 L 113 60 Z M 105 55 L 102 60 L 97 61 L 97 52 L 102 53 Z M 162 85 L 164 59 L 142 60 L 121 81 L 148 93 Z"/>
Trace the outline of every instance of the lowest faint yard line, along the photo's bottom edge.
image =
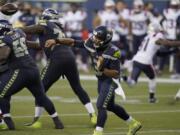
<path id="1" fill-rule="evenodd" d="M 105 132 L 104 135 L 124 135 L 127 132 Z M 138 134 L 152 134 L 152 133 L 180 133 L 180 130 L 147 130 L 139 131 Z M 90 134 L 80 134 L 80 135 L 90 135 Z"/>

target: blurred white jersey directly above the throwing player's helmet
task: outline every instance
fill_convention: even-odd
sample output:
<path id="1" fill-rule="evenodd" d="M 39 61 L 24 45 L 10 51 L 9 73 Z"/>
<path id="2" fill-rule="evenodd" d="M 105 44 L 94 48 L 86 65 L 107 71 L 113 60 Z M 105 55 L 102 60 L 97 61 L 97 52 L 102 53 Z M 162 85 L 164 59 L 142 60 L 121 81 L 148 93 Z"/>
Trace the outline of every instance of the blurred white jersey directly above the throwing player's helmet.
<path id="1" fill-rule="evenodd" d="M 119 41 L 119 33 L 116 29 L 119 29 L 119 16 L 114 11 L 99 11 L 98 16 L 101 20 L 100 25 L 107 26 L 108 28 L 113 30 L 113 38 L 112 41 Z"/>

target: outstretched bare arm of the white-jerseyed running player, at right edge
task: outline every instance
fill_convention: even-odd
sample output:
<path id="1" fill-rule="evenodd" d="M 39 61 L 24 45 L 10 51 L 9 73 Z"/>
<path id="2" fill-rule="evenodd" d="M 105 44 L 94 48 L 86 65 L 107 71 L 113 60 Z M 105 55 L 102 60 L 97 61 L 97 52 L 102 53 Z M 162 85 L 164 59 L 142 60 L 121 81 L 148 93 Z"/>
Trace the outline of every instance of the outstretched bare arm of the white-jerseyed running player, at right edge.
<path id="1" fill-rule="evenodd" d="M 157 45 L 165 45 L 165 46 L 169 46 L 169 47 L 178 47 L 180 46 L 180 41 L 170 41 L 167 39 L 158 39 L 156 41 Z"/>

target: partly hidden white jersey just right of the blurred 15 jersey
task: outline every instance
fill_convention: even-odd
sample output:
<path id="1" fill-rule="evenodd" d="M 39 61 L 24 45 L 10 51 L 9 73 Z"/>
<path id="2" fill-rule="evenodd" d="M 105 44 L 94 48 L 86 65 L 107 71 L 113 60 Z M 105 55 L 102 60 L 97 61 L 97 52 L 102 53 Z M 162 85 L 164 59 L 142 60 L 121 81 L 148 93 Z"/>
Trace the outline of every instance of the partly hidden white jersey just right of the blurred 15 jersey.
<path id="1" fill-rule="evenodd" d="M 124 20 L 129 20 L 130 11 L 128 9 L 123 9 L 119 11 L 119 18 L 123 18 Z M 124 24 L 120 23 L 121 35 L 128 35 L 129 29 L 125 27 Z"/>

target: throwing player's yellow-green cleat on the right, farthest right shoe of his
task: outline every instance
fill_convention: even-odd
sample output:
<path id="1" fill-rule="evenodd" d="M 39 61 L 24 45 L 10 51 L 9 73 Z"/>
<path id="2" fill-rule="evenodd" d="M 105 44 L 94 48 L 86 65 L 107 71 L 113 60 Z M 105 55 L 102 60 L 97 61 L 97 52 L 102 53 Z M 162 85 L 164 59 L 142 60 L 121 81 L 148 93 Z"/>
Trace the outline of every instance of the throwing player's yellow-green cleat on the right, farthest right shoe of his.
<path id="1" fill-rule="evenodd" d="M 129 125 L 129 131 L 127 135 L 135 135 L 137 131 L 139 131 L 142 128 L 142 125 L 140 122 L 136 121 L 135 119 L 132 119 L 130 125 Z"/>

